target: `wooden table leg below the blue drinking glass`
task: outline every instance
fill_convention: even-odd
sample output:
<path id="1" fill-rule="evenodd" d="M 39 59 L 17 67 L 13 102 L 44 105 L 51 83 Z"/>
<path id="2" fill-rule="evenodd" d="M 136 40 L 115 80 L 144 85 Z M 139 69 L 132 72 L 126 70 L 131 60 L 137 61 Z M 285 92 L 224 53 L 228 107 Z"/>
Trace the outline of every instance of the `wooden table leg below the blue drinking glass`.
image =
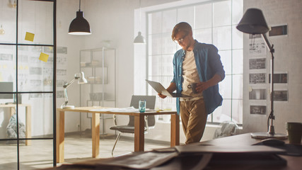
<path id="1" fill-rule="evenodd" d="M 144 151 L 144 115 L 134 116 L 134 152 Z"/>

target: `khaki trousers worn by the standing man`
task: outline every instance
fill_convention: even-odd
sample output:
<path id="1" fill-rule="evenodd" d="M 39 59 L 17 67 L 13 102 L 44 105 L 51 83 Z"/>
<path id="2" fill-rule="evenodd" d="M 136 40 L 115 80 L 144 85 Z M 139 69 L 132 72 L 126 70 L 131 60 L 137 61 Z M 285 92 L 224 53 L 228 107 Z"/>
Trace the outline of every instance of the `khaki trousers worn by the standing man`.
<path id="1" fill-rule="evenodd" d="M 199 142 L 202 139 L 207 123 L 204 99 L 180 101 L 180 118 L 186 137 L 185 144 Z"/>

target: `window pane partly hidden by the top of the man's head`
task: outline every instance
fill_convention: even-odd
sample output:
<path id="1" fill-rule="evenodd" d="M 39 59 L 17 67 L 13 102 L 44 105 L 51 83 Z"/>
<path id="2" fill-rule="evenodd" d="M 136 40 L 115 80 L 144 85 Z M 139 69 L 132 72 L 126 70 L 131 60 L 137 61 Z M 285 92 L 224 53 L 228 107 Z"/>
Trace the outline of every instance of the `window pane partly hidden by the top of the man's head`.
<path id="1" fill-rule="evenodd" d="M 163 33 L 172 34 L 172 30 L 176 25 L 176 9 L 163 11 Z M 171 36 L 170 36 L 171 37 Z"/>

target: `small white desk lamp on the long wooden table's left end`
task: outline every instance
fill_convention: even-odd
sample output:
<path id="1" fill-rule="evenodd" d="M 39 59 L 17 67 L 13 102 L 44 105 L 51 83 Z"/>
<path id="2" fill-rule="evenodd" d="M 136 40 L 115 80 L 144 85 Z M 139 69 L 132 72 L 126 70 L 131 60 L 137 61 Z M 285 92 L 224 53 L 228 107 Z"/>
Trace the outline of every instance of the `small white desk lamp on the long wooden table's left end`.
<path id="1" fill-rule="evenodd" d="M 68 103 L 68 96 L 67 96 L 67 88 L 74 83 L 75 80 L 78 80 L 78 84 L 86 84 L 87 80 L 84 77 L 84 72 L 80 72 L 80 73 L 76 73 L 74 74 L 74 79 L 72 79 L 71 81 L 69 81 L 69 83 L 64 84 L 63 88 L 64 88 L 64 98 L 65 98 L 65 102 L 62 104 L 61 108 L 74 108 L 74 106 L 70 106 L 67 105 Z"/>

